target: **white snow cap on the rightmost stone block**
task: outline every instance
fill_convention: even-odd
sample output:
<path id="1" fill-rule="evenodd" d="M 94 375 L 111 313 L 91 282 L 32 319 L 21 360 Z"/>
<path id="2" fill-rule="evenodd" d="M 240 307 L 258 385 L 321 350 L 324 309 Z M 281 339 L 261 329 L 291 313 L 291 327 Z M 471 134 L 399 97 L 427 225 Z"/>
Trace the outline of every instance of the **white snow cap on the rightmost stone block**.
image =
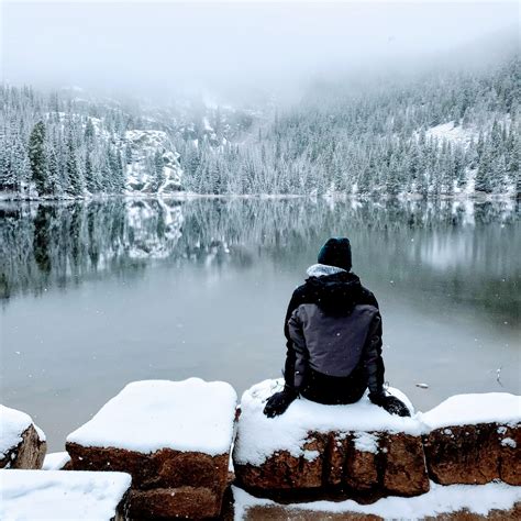
<path id="1" fill-rule="evenodd" d="M 456 395 L 421 414 L 421 420 L 431 430 L 492 422 L 516 424 L 521 421 L 521 396 L 508 392 Z"/>

